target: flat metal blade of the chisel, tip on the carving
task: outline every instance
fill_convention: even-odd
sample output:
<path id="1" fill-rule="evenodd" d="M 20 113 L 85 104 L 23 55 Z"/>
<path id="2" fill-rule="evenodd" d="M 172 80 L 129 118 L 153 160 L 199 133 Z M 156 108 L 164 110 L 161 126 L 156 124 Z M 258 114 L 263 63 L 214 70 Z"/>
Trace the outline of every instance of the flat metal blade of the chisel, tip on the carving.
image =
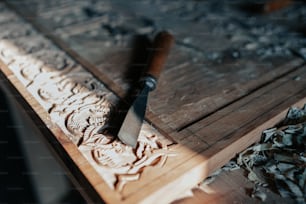
<path id="1" fill-rule="evenodd" d="M 130 107 L 118 133 L 119 139 L 133 148 L 137 145 L 138 135 L 146 112 L 149 91 L 150 87 L 145 85 Z"/>

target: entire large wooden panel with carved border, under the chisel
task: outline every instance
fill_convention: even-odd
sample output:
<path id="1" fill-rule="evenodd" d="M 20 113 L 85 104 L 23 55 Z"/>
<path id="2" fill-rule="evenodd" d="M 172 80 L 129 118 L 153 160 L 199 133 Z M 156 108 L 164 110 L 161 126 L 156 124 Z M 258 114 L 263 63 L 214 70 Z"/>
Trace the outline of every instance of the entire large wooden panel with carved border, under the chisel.
<path id="1" fill-rule="evenodd" d="M 0 3 L 1 86 L 88 201 L 171 202 L 306 103 L 305 33 L 288 26 L 304 5 L 183 2 Z M 132 150 L 101 128 L 124 112 L 159 30 L 175 45 Z"/>

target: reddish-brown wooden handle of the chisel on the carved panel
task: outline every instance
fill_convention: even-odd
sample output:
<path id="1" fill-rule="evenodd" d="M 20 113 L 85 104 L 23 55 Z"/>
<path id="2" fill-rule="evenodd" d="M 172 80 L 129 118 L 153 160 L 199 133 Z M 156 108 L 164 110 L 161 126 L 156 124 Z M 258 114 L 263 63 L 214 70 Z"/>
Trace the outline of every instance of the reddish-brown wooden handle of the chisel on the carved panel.
<path id="1" fill-rule="evenodd" d="M 156 80 L 159 78 L 173 42 L 173 35 L 165 31 L 160 32 L 154 40 L 153 55 L 147 74 L 153 76 Z"/>

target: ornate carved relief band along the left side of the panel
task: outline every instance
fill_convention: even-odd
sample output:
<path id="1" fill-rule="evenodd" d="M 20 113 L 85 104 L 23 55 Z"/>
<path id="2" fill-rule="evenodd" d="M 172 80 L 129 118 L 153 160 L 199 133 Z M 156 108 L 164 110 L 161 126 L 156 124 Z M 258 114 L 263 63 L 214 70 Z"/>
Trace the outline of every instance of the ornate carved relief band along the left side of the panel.
<path id="1" fill-rule="evenodd" d="M 171 142 L 146 123 L 136 149 L 107 135 L 118 98 L 29 24 L 0 25 L 0 59 L 111 188 L 120 192 L 145 167 L 162 166 L 173 155 Z"/>

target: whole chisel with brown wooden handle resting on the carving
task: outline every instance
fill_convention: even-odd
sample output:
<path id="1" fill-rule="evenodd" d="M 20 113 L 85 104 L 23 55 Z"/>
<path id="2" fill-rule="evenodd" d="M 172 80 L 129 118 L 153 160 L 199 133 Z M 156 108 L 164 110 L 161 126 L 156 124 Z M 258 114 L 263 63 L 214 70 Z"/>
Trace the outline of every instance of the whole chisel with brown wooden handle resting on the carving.
<path id="1" fill-rule="evenodd" d="M 152 56 L 146 74 L 141 79 L 142 90 L 129 108 L 118 132 L 119 139 L 133 148 L 137 145 L 138 135 L 145 116 L 148 95 L 156 88 L 156 83 L 168 57 L 174 37 L 162 31 L 154 39 Z"/>

